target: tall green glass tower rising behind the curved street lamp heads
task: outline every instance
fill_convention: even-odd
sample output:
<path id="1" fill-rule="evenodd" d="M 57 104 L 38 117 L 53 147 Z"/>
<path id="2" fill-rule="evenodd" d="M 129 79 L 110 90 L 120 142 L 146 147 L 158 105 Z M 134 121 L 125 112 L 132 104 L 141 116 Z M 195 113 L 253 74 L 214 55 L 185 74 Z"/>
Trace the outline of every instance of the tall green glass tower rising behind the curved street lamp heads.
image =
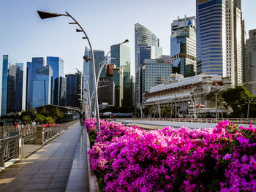
<path id="1" fill-rule="evenodd" d="M 118 60 L 111 60 L 111 64 L 115 64 L 116 67 L 121 66 L 123 69 L 123 107 L 132 107 L 130 48 L 126 45 L 112 45 L 111 50 L 111 58 L 118 58 Z"/>

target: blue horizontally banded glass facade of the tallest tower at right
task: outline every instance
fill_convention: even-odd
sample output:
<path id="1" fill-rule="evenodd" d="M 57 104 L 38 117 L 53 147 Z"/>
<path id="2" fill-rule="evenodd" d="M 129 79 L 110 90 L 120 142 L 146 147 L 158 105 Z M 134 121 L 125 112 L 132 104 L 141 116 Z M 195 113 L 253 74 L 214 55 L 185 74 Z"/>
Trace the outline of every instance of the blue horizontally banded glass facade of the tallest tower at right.
<path id="1" fill-rule="evenodd" d="M 225 0 L 196 0 L 197 74 L 226 77 Z"/>

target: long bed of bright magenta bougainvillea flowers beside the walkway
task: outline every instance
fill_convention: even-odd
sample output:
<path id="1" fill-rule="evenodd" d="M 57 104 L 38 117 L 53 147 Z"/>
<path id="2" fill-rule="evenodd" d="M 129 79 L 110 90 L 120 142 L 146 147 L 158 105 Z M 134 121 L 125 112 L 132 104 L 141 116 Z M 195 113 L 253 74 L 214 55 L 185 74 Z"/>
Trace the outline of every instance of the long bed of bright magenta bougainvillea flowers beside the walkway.
<path id="1" fill-rule="evenodd" d="M 256 191 L 256 128 L 144 131 L 101 120 L 89 150 L 105 191 Z M 96 133 L 96 121 L 86 120 Z"/>

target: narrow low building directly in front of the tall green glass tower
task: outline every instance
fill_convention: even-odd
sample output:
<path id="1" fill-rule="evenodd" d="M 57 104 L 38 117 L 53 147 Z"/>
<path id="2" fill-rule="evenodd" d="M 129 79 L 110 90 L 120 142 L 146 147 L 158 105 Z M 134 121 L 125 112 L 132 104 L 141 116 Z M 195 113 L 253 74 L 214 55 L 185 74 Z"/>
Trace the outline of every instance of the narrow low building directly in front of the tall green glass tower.
<path id="1" fill-rule="evenodd" d="M 124 77 L 121 66 L 113 68 L 113 82 L 115 83 L 115 106 L 124 107 Z"/>

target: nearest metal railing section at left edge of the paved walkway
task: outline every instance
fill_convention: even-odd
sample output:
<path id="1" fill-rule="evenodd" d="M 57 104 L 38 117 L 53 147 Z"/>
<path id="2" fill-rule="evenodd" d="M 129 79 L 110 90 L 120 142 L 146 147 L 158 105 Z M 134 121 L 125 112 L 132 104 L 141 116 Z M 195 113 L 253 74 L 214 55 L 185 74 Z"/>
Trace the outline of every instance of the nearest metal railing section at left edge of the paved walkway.
<path id="1" fill-rule="evenodd" d="M 4 162 L 12 158 L 19 158 L 21 153 L 20 147 L 23 147 L 20 135 L 0 139 L 0 166 L 4 166 Z"/>

